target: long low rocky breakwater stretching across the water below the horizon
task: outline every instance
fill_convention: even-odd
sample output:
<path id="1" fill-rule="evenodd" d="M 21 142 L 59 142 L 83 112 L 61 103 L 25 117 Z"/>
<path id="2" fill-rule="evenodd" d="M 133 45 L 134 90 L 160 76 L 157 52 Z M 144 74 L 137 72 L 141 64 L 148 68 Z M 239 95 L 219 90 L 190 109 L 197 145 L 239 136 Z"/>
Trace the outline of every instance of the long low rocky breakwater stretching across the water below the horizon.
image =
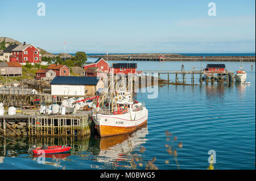
<path id="1" fill-rule="evenodd" d="M 104 58 L 105 60 L 124 61 L 131 59 L 144 59 L 142 61 L 150 61 L 150 59 L 164 56 L 164 61 L 244 61 L 255 62 L 255 56 L 184 56 L 181 54 L 170 53 L 140 53 L 140 54 L 104 54 L 104 55 L 92 55 L 92 58 Z M 146 60 L 145 60 L 146 59 Z M 139 61 L 139 60 L 138 60 Z"/>

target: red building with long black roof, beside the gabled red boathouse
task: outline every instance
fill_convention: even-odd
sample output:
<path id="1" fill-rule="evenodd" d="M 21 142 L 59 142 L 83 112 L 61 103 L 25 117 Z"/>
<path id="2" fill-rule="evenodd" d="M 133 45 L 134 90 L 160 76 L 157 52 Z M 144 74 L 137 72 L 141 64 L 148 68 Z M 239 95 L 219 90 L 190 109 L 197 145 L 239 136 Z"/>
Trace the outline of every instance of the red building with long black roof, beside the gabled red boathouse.
<path id="1" fill-rule="evenodd" d="M 114 71 L 114 74 L 118 74 L 118 73 L 124 73 L 124 74 L 135 74 L 137 73 L 136 69 L 137 69 L 137 64 L 136 63 L 115 63 L 112 64 L 112 68 Z"/>

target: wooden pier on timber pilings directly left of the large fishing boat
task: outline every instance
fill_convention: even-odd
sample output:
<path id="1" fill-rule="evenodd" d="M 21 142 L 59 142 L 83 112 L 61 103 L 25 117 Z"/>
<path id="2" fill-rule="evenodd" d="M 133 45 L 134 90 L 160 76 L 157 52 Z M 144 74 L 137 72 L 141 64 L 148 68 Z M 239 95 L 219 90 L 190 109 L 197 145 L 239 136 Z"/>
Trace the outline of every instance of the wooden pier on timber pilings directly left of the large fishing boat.
<path id="1" fill-rule="evenodd" d="M 5 115 L 0 116 L 0 123 L 4 136 L 7 128 L 21 136 L 9 123 L 26 124 L 28 136 L 86 136 L 90 134 L 92 121 L 89 111 L 75 115 Z"/>

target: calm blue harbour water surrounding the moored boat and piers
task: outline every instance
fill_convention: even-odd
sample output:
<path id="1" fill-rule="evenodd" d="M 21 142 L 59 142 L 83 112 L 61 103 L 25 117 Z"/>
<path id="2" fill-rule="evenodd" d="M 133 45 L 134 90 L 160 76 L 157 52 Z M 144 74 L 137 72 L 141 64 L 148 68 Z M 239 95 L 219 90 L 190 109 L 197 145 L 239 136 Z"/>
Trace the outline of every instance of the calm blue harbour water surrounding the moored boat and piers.
<path id="1" fill-rule="evenodd" d="M 89 58 L 89 61 L 95 59 Z M 111 63 L 112 61 L 110 61 Z M 114 61 L 113 61 L 114 62 Z M 204 68 L 208 62 L 184 62 L 185 70 Z M 214 62 L 223 63 L 223 62 Z M 180 70 L 181 62 L 137 62 L 140 70 Z M 240 62 L 225 62 L 236 71 Z M 146 103 L 148 124 L 130 136 L 101 139 L 96 134 L 83 138 L 18 138 L 17 142 L 0 138 L 0 169 L 130 169 L 134 154 L 143 163 L 156 157 L 159 169 L 177 169 L 166 144 L 177 149 L 180 169 L 207 169 L 208 151 L 216 152 L 214 169 L 255 169 L 255 62 L 243 63 L 250 85 L 209 83 L 202 86 L 158 87 L 158 98 L 148 99 L 147 90 L 137 92 L 136 99 Z M 195 77 L 199 78 L 199 77 Z M 171 76 L 174 81 L 175 75 Z M 172 81 L 171 80 L 171 81 Z M 187 82 L 191 79 L 187 77 Z M 176 136 L 166 140 L 164 131 Z M 183 148 L 177 148 L 182 142 Z M 28 145 L 70 144 L 69 154 L 49 155 L 46 163 L 27 154 Z M 142 146 L 146 149 L 140 153 Z M 166 164 L 165 161 L 170 161 Z M 138 166 L 138 169 L 144 169 Z"/>

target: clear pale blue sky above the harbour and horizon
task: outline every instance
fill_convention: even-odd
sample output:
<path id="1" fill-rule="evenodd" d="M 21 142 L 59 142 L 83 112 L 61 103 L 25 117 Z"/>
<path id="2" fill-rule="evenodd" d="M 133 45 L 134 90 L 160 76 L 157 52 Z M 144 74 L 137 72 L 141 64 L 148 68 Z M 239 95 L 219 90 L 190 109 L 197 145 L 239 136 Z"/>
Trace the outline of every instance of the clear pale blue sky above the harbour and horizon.
<path id="1" fill-rule="evenodd" d="M 39 2 L 46 16 L 38 16 Z M 216 16 L 209 16 L 209 2 Z M 52 53 L 254 53 L 255 1 L 3 1 L 0 36 Z"/>

